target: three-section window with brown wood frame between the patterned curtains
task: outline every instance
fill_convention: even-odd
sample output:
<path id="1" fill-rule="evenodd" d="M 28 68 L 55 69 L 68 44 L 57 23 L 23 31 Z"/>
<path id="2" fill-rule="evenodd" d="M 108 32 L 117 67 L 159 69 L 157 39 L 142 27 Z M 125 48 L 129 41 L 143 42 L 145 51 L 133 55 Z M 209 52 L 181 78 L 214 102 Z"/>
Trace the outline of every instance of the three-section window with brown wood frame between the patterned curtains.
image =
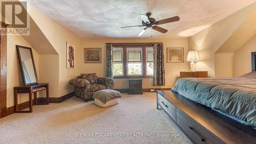
<path id="1" fill-rule="evenodd" d="M 114 78 L 152 77 L 152 45 L 113 46 Z"/>

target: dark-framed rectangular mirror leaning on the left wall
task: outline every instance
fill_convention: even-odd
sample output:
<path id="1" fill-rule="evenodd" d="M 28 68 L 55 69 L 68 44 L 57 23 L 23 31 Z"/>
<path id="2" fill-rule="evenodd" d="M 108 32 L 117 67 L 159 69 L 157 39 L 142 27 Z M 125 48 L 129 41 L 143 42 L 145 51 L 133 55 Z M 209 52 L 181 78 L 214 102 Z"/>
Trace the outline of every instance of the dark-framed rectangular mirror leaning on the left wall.
<path id="1" fill-rule="evenodd" d="M 19 66 L 22 70 L 24 86 L 37 85 L 38 79 L 32 49 L 17 45 L 16 49 L 18 53 Z"/>

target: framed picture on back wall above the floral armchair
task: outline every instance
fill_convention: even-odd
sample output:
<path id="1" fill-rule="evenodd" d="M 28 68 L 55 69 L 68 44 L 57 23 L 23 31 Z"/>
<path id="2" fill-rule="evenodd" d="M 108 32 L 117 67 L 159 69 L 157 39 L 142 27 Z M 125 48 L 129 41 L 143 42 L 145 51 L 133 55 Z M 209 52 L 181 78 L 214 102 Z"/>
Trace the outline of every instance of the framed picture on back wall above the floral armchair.
<path id="1" fill-rule="evenodd" d="M 84 48 L 84 63 L 101 63 L 101 48 Z"/>

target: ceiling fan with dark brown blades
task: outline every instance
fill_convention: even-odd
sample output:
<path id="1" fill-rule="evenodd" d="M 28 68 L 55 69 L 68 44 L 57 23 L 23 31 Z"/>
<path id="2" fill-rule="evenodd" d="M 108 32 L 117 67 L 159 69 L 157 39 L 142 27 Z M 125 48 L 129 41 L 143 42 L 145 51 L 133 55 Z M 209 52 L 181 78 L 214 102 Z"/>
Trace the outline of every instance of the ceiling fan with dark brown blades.
<path id="1" fill-rule="evenodd" d="M 140 18 L 142 19 L 142 25 L 127 26 L 127 27 L 121 27 L 121 28 L 145 27 L 144 29 L 142 29 L 142 31 L 137 36 L 141 36 L 146 31 L 146 29 L 148 29 L 148 28 L 152 28 L 152 29 L 154 29 L 156 31 L 159 31 L 161 33 L 166 33 L 168 30 L 166 30 L 164 28 L 161 28 L 161 27 L 158 27 L 158 25 L 177 22 L 177 21 L 180 20 L 179 16 L 174 16 L 174 17 L 170 17 L 170 18 L 166 18 L 166 19 L 156 21 L 155 18 L 150 17 L 151 14 L 152 14 L 151 12 L 148 12 L 146 14 L 139 14 Z"/>

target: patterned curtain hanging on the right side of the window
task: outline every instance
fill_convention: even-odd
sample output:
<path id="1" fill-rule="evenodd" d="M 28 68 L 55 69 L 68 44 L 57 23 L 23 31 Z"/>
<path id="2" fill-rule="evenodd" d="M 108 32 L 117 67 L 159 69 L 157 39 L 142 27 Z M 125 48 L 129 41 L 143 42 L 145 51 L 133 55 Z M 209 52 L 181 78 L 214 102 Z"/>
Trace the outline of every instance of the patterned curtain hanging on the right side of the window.
<path id="1" fill-rule="evenodd" d="M 153 86 L 165 86 L 163 44 L 155 44 Z"/>

